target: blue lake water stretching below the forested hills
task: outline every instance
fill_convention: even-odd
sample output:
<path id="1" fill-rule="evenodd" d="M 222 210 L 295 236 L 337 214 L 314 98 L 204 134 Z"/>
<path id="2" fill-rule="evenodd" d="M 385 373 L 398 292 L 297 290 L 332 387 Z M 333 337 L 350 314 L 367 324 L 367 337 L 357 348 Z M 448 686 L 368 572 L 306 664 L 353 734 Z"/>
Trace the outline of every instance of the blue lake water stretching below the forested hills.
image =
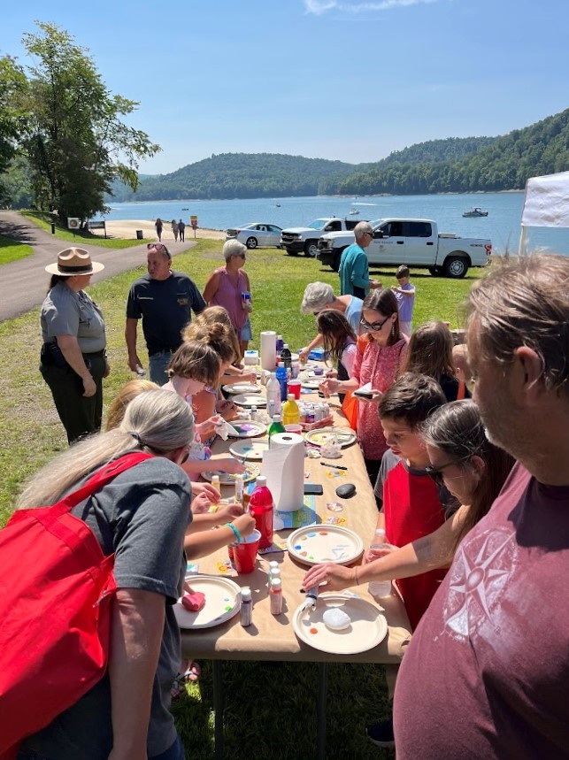
<path id="1" fill-rule="evenodd" d="M 462 237 L 489 238 L 496 254 L 517 252 L 524 194 L 484 193 L 445 196 L 314 196 L 303 198 L 251 198 L 231 201 L 148 201 L 110 203 L 107 219 L 184 219 L 196 214 L 198 225 L 211 229 L 265 222 L 281 227 L 304 226 L 312 219 L 345 216 L 358 209 L 358 219 L 386 217 L 434 219 L 439 232 Z M 463 211 L 480 206 L 488 217 L 465 219 Z M 551 249 L 569 255 L 569 230 L 531 228 L 528 247 Z"/>

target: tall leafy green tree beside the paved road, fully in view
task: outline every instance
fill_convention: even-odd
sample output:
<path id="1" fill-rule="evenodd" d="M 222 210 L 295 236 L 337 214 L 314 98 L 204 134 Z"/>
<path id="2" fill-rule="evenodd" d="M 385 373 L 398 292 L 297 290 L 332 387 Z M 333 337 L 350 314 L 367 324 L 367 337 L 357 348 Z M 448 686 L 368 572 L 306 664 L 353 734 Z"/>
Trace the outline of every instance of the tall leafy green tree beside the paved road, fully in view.
<path id="1" fill-rule="evenodd" d="M 38 59 L 29 68 L 23 142 L 32 170 L 35 203 L 58 209 L 60 221 L 89 219 L 105 211 L 104 194 L 119 178 L 138 185 L 138 160 L 160 147 L 119 117 L 135 111 L 134 100 L 111 95 L 85 49 L 54 24 L 36 22 L 40 35 L 23 43 Z"/>

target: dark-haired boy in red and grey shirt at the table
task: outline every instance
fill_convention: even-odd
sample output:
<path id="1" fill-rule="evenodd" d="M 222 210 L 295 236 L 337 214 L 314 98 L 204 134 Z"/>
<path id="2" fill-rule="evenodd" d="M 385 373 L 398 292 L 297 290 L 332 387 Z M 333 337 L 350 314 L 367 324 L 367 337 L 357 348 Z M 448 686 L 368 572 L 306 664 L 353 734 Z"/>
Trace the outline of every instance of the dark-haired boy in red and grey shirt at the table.
<path id="1" fill-rule="evenodd" d="M 394 546 L 432 534 L 445 520 L 437 486 L 425 471 L 429 458 L 419 432 L 431 411 L 445 401 L 433 378 L 412 372 L 405 372 L 381 397 L 378 411 L 389 449 L 375 484 L 382 510 L 377 526 L 385 528 L 386 541 Z M 434 570 L 397 581 L 413 628 L 444 574 Z"/>

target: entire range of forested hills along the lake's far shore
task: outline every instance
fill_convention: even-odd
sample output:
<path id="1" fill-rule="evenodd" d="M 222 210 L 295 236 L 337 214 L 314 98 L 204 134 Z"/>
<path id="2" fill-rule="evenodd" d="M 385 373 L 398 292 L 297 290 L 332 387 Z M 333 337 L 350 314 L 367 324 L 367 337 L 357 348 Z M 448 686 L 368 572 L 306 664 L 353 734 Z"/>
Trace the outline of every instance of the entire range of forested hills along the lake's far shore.
<path id="1" fill-rule="evenodd" d="M 522 189 L 528 177 L 569 169 L 569 109 L 500 137 L 411 145 L 370 164 L 279 153 L 222 153 L 171 174 L 114 186 L 115 201 L 316 195 L 423 195 Z"/>

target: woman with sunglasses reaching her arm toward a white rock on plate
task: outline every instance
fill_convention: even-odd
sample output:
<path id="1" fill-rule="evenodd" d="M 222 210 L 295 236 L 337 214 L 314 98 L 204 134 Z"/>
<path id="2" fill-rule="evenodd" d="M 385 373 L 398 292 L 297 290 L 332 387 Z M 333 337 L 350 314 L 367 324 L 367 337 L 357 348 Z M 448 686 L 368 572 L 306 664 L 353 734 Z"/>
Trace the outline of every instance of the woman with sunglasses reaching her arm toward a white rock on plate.
<path id="1" fill-rule="evenodd" d="M 304 587 L 326 582 L 327 591 L 342 591 L 373 581 L 415 577 L 452 562 L 460 541 L 488 513 L 514 460 L 488 441 L 480 410 L 471 400 L 442 404 L 419 426 L 419 433 L 431 463 L 425 471 L 461 506 L 433 533 L 401 549 L 388 550 L 361 567 L 329 563 L 311 568 L 304 577 Z M 391 719 L 369 725 L 366 733 L 379 747 L 394 744 Z"/>

